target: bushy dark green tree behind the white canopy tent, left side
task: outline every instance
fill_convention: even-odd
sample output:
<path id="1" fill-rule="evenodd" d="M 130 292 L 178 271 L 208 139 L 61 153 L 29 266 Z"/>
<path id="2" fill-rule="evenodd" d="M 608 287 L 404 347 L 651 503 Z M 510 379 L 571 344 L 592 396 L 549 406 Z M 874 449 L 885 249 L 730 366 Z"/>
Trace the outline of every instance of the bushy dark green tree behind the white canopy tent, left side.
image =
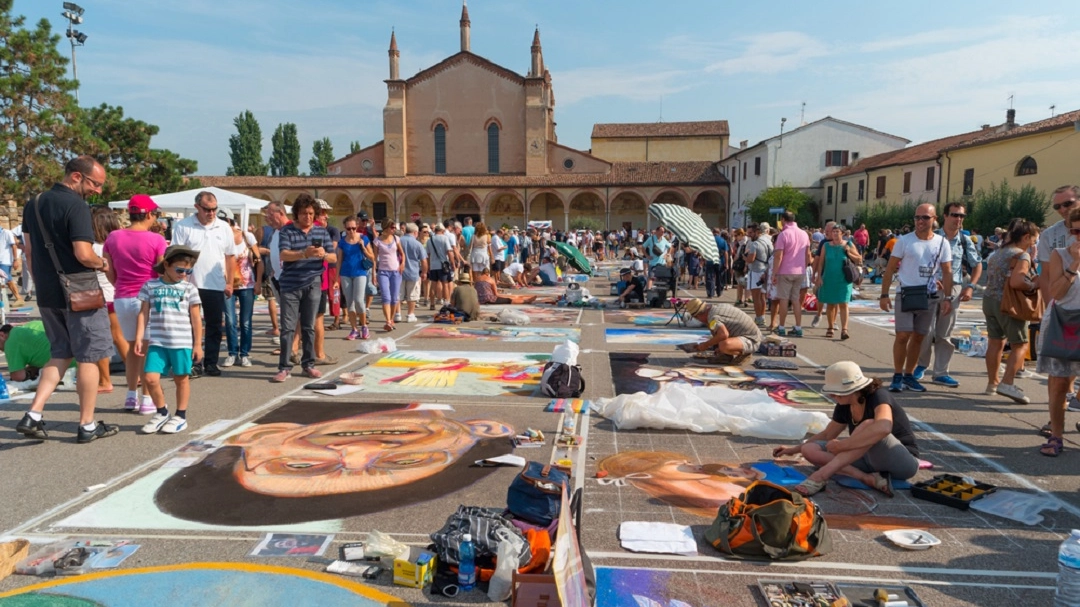
<path id="1" fill-rule="evenodd" d="M 102 104 L 82 110 L 82 122 L 91 132 L 84 149 L 97 158 L 108 172 L 108 180 L 96 200 L 131 198 L 136 193 L 156 194 L 198 188 L 194 174 L 199 164 L 176 153 L 150 147 L 159 129 L 141 120 L 124 118 L 122 107 Z"/>

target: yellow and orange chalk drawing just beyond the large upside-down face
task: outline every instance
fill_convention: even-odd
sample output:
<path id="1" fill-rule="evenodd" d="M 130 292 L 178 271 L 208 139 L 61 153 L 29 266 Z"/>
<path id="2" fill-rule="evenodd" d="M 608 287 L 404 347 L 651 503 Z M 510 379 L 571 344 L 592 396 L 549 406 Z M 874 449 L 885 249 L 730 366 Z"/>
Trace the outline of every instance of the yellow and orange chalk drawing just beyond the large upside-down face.
<path id="1" fill-rule="evenodd" d="M 365 392 L 531 396 L 550 354 L 397 351 L 364 367 Z"/>

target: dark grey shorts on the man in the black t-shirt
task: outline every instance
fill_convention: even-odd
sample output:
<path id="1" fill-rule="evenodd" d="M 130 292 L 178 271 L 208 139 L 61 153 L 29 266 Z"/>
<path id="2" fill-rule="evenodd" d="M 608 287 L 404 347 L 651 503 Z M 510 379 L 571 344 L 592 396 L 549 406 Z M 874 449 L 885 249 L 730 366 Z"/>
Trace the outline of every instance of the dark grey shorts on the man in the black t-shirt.
<path id="1" fill-rule="evenodd" d="M 112 329 L 105 308 L 85 312 L 41 308 L 40 312 L 53 359 L 96 363 L 112 356 Z"/>

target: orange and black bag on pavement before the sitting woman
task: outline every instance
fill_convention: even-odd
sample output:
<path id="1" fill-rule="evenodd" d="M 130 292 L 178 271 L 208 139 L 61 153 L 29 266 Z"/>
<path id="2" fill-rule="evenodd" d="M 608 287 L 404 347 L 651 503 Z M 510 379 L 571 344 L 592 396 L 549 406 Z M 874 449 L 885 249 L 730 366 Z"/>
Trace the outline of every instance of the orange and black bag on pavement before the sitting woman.
<path id="1" fill-rule="evenodd" d="M 705 539 L 738 558 L 798 561 L 832 550 L 828 525 L 813 500 L 755 481 L 720 507 Z"/>

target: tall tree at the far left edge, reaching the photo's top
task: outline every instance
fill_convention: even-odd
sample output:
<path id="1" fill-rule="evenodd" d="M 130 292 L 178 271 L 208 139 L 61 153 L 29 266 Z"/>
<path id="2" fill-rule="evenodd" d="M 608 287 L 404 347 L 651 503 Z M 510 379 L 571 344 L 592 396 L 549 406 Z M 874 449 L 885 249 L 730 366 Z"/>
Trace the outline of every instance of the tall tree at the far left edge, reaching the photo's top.
<path id="1" fill-rule="evenodd" d="M 0 192 L 26 200 L 63 175 L 89 132 L 46 19 L 32 29 L 0 0 Z"/>

